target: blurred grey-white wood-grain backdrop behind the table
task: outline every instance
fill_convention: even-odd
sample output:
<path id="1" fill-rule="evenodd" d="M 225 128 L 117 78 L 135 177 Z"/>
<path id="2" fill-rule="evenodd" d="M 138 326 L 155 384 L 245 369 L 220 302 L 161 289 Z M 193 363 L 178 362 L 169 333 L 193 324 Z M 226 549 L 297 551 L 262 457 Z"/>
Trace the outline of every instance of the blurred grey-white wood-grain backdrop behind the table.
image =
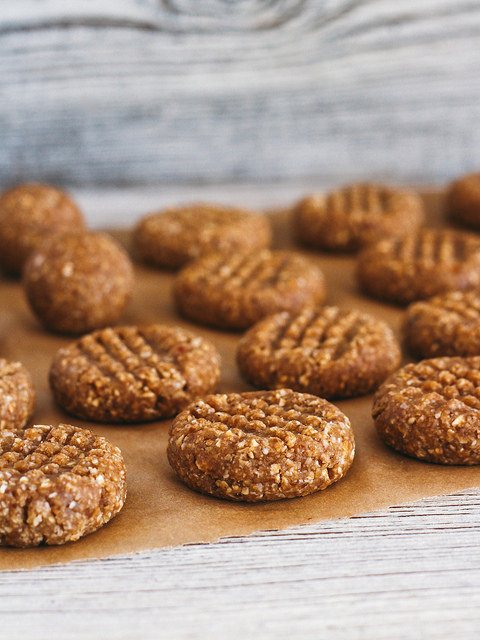
<path id="1" fill-rule="evenodd" d="M 1 185 L 480 166 L 478 0 L 1 5 Z"/>

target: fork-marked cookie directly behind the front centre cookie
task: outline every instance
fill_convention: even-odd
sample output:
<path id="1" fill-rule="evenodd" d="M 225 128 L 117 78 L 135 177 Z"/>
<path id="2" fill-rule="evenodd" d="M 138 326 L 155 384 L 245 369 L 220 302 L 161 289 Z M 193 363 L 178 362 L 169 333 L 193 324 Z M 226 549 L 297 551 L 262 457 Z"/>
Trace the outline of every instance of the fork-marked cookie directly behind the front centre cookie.
<path id="1" fill-rule="evenodd" d="M 260 320 L 240 340 L 237 362 L 257 387 L 289 387 L 322 398 L 370 393 L 400 364 L 384 322 L 338 307 L 304 307 Z"/>

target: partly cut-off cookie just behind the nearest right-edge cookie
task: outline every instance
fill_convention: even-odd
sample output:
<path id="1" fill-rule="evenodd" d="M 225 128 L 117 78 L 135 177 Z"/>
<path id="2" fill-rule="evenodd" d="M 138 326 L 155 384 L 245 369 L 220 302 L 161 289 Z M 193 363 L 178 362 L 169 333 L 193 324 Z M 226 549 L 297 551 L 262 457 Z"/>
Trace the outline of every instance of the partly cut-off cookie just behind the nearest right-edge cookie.
<path id="1" fill-rule="evenodd" d="M 452 291 L 411 304 L 404 334 L 410 351 L 422 358 L 480 355 L 480 295 Z"/>

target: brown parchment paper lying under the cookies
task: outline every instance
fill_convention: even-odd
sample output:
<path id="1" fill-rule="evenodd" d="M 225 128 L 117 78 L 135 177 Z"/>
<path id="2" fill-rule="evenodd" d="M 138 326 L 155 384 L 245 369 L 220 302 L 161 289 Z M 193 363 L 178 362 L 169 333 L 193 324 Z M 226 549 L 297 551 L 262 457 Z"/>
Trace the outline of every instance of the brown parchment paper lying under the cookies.
<path id="1" fill-rule="evenodd" d="M 429 224 L 442 224 L 441 194 L 432 192 L 424 197 Z M 289 246 L 287 216 L 277 213 L 272 215 L 272 220 L 276 246 Z M 403 311 L 369 300 L 357 291 L 353 257 L 305 253 L 318 260 L 324 269 L 328 303 L 370 312 L 398 332 Z M 235 366 L 239 334 L 199 327 L 177 317 L 171 300 L 172 281 L 172 274 L 139 266 L 134 299 L 119 324 L 165 322 L 197 331 L 212 340 L 222 355 L 219 390 L 250 389 Z M 40 327 L 27 307 L 20 283 L 0 281 L 0 355 L 21 360 L 32 373 L 38 394 L 34 422 L 83 425 L 118 445 L 127 465 L 127 501 L 114 520 L 78 542 L 62 547 L 0 549 L 0 570 L 211 542 L 222 536 L 351 516 L 479 484 L 477 467 L 423 463 L 385 447 L 375 434 L 370 417 L 372 397 L 367 396 L 337 403 L 352 421 L 357 454 L 347 477 L 326 491 L 256 505 L 199 495 L 183 486 L 168 465 L 165 449 L 170 421 L 133 426 L 96 425 L 72 418 L 55 407 L 47 383 L 48 368 L 55 351 L 70 341 L 68 337 L 48 334 Z"/>

